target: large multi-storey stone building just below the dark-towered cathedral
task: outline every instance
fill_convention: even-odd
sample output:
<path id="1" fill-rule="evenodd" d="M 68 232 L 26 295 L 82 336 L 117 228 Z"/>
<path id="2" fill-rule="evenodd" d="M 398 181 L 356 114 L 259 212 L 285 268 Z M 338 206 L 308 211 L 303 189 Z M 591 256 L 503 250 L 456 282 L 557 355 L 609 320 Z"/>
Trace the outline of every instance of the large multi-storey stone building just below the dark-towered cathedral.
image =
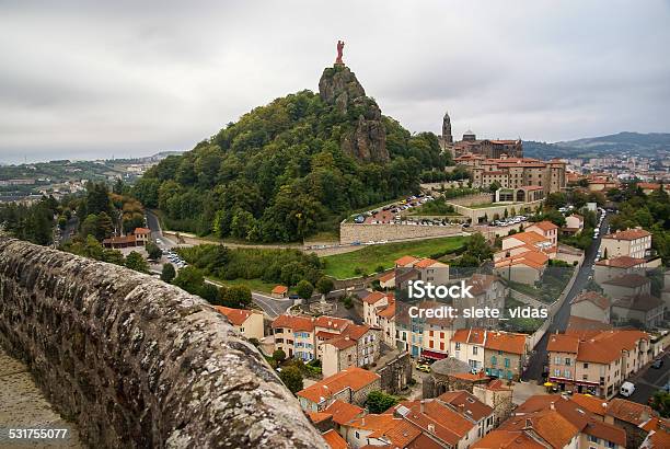
<path id="1" fill-rule="evenodd" d="M 488 187 L 497 183 L 513 192 L 513 200 L 527 202 L 522 187 L 542 187 L 545 195 L 561 192 L 566 186 L 565 162 L 558 159 L 541 161 L 532 158 L 517 158 L 501 154 L 489 158 L 478 153 L 463 153 L 454 159 L 472 173 L 473 187 Z"/>

